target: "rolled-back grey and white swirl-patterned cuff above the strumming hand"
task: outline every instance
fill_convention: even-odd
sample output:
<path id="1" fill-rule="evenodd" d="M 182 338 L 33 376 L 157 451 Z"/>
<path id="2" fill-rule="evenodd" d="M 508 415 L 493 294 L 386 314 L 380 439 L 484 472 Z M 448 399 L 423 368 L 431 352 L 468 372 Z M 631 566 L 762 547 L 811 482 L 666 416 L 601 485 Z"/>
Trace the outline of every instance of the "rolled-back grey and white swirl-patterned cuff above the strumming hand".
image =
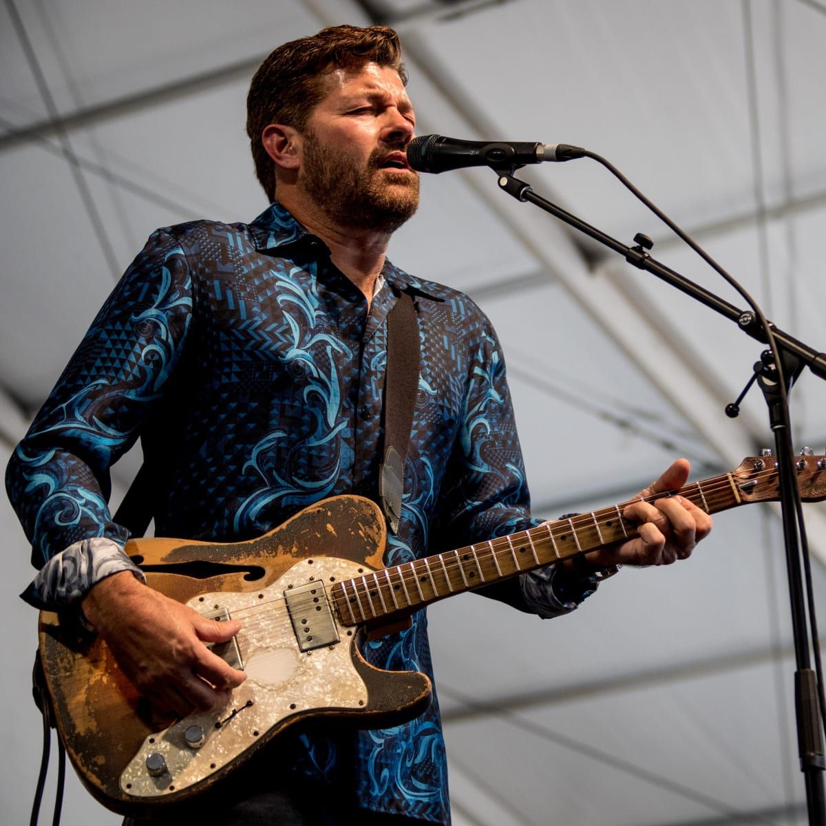
<path id="1" fill-rule="evenodd" d="M 144 572 L 112 539 L 83 539 L 45 563 L 20 596 L 40 610 L 63 610 L 79 603 L 102 579 L 121 571 L 131 571 L 146 582 Z"/>

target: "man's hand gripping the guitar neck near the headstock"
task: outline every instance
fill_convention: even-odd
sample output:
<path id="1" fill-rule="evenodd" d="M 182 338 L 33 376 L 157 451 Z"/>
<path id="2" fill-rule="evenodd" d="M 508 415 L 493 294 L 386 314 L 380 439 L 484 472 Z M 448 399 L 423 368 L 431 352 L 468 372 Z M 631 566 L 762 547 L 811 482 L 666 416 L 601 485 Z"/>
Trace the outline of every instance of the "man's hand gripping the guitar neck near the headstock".
<path id="1" fill-rule="evenodd" d="M 637 524 L 637 536 L 586 554 L 592 565 L 671 565 L 691 556 L 695 545 L 711 530 L 711 517 L 685 496 L 663 496 L 657 501 L 642 501 L 662 491 L 683 487 L 691 466 L 677 459 L 661 477 L 639 491 L 623 510 L 626 519 Z"/>

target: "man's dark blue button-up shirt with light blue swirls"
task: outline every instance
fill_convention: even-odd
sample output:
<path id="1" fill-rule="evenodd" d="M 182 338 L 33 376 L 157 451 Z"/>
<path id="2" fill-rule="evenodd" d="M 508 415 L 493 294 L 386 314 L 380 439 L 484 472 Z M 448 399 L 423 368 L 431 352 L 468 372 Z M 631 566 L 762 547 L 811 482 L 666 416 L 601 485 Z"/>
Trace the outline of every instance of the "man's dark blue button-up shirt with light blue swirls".
<path id="1" fill-rule="evenodd" d="M 392 263 L 382 276 L 368 311 L 325 244 L 278 204 L 249 225 L 156 231 L 9 463 L 9 495 L 42 569 L 26 599 L 59 607 L 131 564 L 107 498 L 110 466 L 139 435 L 158 535 L 249 539 L 325 496 L 375 499 L 386 318 L 400 291 L 414 299 L 421 363 L 401 525 L 385 562 L 539 524 L 490 322 L 462 293 Z M 553 616 L 573 607 L 554 594 L 564 576 L 534 572 L 492 596 Z M 425 612 L 364 654 L 432 677 Z M 435 699 L 411 723 L 299 733 L 290 748 L 295 771 L 345 782 L 364 808 L 449 822 Z"/>

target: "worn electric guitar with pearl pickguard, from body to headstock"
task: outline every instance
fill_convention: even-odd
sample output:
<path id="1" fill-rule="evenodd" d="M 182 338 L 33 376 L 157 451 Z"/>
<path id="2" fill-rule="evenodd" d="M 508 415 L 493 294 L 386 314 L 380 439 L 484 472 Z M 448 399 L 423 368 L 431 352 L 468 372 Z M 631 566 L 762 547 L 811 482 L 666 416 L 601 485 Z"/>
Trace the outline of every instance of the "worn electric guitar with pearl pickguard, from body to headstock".
<path id="1" fill-rule="evenodd" d="M 805 501 L 826 498 L 826 458 L 801 456 Z M 679 494 L 710 514 L 778 498 L 773 458 Z M 635 535 L 616 505 L 538 528 L 383 567 L 384 517 L 360 496 L 301 510 L 248 542 L 133 539 L 126 553 L 148 584 L 239 634 L 213 648 L 247 679 L 223 708 L 180 719 L 153 709 L 100 638 L 40 614 L 40 658 L 60 738 L 83 784 L 121 814 L 146 814 L 210 790 L 287 726 L 325 717 L 363 729 L 396 724 L 430 702 L 430 680 L 366 662 L 359 638 L 410 623 L 425 605 Z"/>

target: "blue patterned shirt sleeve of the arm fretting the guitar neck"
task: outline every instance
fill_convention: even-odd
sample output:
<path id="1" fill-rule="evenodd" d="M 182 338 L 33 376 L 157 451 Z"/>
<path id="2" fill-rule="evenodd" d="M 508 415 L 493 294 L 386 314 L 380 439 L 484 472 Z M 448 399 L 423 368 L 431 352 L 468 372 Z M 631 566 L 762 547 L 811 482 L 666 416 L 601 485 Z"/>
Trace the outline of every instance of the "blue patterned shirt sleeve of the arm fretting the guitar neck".
<path id="1" fill-rule="evenodd" d="M 487 318 L 472 344 L 468 392 L 443 487 L 444 548 L 456 548 L 542 525 L 530 515 L 519 436 L 505 360 Z M 596 590 L 563 566 L 547 566 L 479 589 L 546 619 L 575 609 Z"/>

